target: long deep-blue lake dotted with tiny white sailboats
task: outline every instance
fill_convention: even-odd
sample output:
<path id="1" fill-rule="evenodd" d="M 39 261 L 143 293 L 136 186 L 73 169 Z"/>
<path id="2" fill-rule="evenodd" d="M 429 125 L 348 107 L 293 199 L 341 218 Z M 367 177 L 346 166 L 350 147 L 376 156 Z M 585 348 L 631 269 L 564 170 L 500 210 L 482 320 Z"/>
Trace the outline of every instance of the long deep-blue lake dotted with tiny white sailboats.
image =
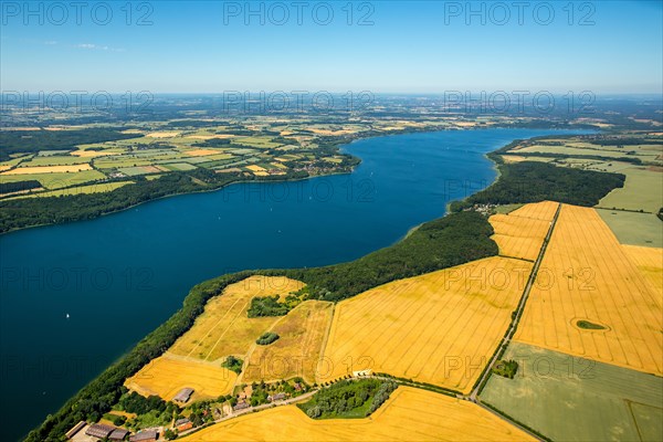
<path id="1" fill-rule="evenodd" d="M 17 440 L 155 329 L 189 288 L 243 269 L 359 257 L 496 177 L 484 155 L 559 130 L 359 140 L 351 175 L 241 183 L 0 236 L 0 414 Z"/>

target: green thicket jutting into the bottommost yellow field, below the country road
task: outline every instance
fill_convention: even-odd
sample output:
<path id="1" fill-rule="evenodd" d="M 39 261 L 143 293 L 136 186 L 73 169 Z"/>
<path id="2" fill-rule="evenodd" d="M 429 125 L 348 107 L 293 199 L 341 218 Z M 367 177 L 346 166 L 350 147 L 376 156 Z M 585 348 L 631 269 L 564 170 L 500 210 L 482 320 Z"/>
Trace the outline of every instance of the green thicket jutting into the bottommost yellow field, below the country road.
<path id="1" fill-rule="evenodd" d="M 397 387 L 398 383 L 390 380 L 341 380 L 322 389 L 309 401 L 297 407 L 312 419 L 356 414 L 366 417 L 377 410 Z"/>

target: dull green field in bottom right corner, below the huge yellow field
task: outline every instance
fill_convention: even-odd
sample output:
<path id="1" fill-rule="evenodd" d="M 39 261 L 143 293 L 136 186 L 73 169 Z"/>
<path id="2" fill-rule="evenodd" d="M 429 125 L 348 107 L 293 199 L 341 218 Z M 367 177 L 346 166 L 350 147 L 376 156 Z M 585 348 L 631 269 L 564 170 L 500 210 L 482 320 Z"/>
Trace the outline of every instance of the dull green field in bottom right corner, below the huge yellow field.
<path id="1" fill-rule="evenodd" d="M 663 379 L 512 343 L 514 379 L 492 376 L 481 400 L 558 441 L 663 440 Z"/>

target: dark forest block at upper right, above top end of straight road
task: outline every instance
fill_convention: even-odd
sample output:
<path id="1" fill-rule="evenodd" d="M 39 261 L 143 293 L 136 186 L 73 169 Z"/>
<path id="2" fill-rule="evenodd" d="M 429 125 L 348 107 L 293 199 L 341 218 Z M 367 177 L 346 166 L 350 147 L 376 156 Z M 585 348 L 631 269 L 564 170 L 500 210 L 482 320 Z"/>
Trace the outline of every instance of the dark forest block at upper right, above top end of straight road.
<path id="1" fill-rule="evenodd" d="M 499 171 L 495 183 L 463 201 L 452 202 L 451 210 L 544 200 L 592 207 L 611 190 L 623 187 L 625 180 L 622 173 L 556 167 L 538 161 L 502 164 Z"/>

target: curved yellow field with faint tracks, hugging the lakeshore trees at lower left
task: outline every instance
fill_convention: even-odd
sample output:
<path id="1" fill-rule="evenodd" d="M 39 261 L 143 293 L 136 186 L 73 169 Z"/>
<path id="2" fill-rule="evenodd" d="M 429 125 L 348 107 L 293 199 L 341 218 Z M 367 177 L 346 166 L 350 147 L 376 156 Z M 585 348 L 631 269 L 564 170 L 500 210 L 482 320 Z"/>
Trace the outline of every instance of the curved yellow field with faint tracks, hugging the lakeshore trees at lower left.
<path id="1" fill-rule="evenodd" d="M 251 276 L 231 284 L 208 302 L 193 327 L 170 348 L 176 355 L 209 361 L 233 355 L 245 358 L 255 339 L 269 330 L 278 317 L 249 318 L 246 311 L 255 296 L 287 295 L 303 283 L 282 276 Z"/>

